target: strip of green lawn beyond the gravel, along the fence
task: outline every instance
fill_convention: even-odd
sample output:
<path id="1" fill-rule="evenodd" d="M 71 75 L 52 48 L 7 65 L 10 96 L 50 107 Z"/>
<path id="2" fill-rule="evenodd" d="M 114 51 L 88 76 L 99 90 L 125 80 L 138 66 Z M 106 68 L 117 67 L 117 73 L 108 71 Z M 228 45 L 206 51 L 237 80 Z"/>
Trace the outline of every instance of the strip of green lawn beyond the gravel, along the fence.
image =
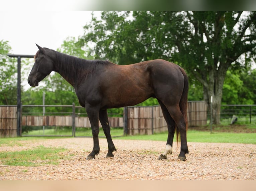
<path id="1" fill-rule="evenodd" d="M 209 127 L 207 127 L 209 128 Z M 220 127 L 222 129 L 226 127 Z M 220 132 L 219 127 L 215 127 L 213 133 L 210 130 L 193 130 L 189 129 L 187 132 L 188 142 L 223 142 L 223 143 L 250 143 L 256 144 L 256 133 L 234 133 L 234 132 Z M 228 128 L 228 127 L 227 127 Z M 233 128 L 233 127 L 232 127 Z M 255 126 L 249 125 L 247 129 L 256 128 Z M 254 131 L 255 132 L 255 131 Z M 42 130 L 29 131 L 29 133 L 22 135 L 42 135 Z M 72 135 L 71 129 L 45 129 L 44 135 Z M 122 128 L 111 128 L 111 135 L 114 139 L 136 139 L 136 140 L 158 140 L 166 141 L 167 132 L 158 133 L 154 135 L 134 135 L 134 136 L 123 136 Z M 76 136 L 92 136 L 90 128 L 77 128 Z M 105 137 L 102 128 L 100 128 L 100 137 Z M 23 137 L 24 138 L 24 137 Z M 174 141 L 175 138 L 174 138 Z M 0 139 L 1 144 L 1 139 Z"/>

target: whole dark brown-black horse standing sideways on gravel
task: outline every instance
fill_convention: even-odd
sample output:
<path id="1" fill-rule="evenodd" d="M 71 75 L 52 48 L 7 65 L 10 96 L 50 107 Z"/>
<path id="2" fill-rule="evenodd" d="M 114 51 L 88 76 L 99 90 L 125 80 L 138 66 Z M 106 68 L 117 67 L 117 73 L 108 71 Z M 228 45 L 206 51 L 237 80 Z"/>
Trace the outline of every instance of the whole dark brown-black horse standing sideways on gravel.
<path id="1" fill-rule="evenodd" d="M 116 148 L 110 135 L 107 109 L 135 105 L 149 97 L 157 98 L 168 126 L 166 147 L 159 159 L 166 159 L 167 154 L 172 153 L 175 129 L 177 140 L 180 138 L 181 141 L 178 159 L 186 159 L 188 79 L 181 67 L 165 60 L 121 66 L 109 61 L 80 59 L 36 46 L 39 51 L 35 55 L 28 84 L 38 86 L 54 71 L 74 87 L 92 127 L 94 144 L 87 159 L 94 159 L 100 151 L 99 120 L 108 142 L 106 157 L 114 157 L 112 152 Z"/>

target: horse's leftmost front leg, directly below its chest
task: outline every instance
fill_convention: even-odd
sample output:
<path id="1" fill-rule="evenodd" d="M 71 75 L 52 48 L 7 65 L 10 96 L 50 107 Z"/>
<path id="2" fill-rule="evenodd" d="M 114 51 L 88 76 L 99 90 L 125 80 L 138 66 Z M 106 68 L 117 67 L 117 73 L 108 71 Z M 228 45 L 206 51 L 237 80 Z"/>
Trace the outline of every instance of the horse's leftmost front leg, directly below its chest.
<path id="1" fill-rule="evenodd" d="M 91 106 L 86 106 L 86 111 L 91 123 L 92 134 L 93 134 L 93 150 L 87 156 L 86 159 L 95 159 L 95 155 L 99 154 L 100 152 L 100 145 L 99 145 L 99 109 Z"/>

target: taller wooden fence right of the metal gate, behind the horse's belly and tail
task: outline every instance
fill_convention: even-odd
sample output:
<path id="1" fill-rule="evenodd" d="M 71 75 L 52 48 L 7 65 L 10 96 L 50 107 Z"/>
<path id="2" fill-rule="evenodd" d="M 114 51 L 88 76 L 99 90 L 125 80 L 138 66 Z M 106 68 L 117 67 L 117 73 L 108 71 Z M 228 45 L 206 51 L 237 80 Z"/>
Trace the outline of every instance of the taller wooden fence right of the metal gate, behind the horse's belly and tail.
<path id="1" fill-rule="evenodd" d="M 129 135 L 153 134 L 167 131 L 167 124 L 161 107 L 133 106 L 127 107 L 127 126 L 125 131 Z M 204 101 L 189 101 L 187 107 L 188 126 L 202 126 L 207 124 L 207 105 Z"/>

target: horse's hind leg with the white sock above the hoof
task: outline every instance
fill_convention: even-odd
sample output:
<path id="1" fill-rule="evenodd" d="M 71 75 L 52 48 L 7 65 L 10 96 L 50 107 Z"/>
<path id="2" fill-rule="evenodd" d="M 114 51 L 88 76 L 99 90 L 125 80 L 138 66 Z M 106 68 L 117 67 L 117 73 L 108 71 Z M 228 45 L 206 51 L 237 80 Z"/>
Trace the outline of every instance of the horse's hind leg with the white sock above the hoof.
<path id="1" fill-rule="evenodd" d="M 159 99 L 158 99 L 158 102 L 161 106 L 163 117 L 167 123 L 167 128 L 168 128 L 168 137 L 167 137 L 166 146 L 163 154 L 161 154 L 158 157 L 158 159 L 167 159 L 167 154 L 172 154 L 172 142 L 173 142 L 173 137 L 175 133 L 175 121 L 172 119 L 165 105 Z"/>

